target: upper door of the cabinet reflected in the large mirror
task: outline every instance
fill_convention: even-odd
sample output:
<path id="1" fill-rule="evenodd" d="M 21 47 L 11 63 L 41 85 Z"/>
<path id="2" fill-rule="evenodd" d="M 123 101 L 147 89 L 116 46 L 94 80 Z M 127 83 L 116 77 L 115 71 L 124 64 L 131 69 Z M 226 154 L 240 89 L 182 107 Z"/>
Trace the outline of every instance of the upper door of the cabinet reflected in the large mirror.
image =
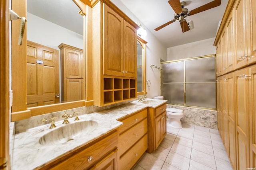
<path id="1" fill-rule="evenodd" d="M 81 52 L 66 49 L 66 78 L 81 78 Z"/>

